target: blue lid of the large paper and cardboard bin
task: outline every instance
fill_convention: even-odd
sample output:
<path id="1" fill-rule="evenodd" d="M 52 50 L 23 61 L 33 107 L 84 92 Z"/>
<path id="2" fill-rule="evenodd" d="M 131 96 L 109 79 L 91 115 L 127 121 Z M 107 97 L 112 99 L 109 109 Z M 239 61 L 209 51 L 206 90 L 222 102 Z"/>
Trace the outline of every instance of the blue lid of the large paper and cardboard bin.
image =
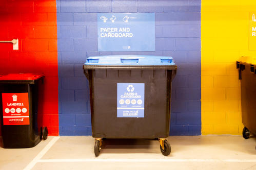
<path id="1" fill-rule="evenodd" d="M 85 65 L 175 65 L 172 57 L 111 55 L 88 57 Z"/>

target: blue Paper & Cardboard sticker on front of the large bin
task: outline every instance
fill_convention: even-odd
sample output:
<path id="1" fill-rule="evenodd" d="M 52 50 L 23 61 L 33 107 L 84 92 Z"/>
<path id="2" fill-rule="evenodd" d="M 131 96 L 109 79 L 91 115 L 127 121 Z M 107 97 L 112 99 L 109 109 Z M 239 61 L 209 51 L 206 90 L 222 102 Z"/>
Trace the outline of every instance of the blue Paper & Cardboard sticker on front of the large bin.
<path id="1" fill-rule="evenodd" d="M 117 117 L 144 117 L 144 83 L 117 83 Z"/>

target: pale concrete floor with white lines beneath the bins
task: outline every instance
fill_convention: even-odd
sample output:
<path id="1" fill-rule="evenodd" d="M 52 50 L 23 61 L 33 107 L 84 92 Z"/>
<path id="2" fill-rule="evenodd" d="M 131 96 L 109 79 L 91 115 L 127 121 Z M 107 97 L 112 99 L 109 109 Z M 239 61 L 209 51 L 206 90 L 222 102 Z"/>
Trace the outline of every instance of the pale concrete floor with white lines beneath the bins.
<path id="1" fill-rule="evenodd" d="M 91 136 L 52 137 L 29 149 L 0 148 L 0 169 L 256 169 L 251 136 L 171 136 L 171 154 L 157 140 L 106 139 L 94 156 Z"/>

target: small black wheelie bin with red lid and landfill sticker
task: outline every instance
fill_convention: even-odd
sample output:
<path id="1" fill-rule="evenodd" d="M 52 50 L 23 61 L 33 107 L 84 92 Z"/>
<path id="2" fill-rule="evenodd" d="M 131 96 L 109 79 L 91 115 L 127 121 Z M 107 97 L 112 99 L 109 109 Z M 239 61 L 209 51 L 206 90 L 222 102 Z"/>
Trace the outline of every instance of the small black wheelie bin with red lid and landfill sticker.
<path id="1" fill-rule="evenodd" d="M 4 148 L 31 148 L 47 139 L 38 116 L 44 75 L 0 75 L 0 119 Z"/>

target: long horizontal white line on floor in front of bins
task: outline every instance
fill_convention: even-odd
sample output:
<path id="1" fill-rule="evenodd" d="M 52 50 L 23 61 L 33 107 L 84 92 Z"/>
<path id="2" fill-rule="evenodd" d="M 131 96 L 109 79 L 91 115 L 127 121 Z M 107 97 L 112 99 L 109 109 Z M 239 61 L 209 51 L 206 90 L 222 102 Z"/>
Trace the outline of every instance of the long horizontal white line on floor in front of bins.
<path id="1" fill-rule="evenodd" d="M 37 162 L 256 162 L 256 159 L 40 159 Z"/>

